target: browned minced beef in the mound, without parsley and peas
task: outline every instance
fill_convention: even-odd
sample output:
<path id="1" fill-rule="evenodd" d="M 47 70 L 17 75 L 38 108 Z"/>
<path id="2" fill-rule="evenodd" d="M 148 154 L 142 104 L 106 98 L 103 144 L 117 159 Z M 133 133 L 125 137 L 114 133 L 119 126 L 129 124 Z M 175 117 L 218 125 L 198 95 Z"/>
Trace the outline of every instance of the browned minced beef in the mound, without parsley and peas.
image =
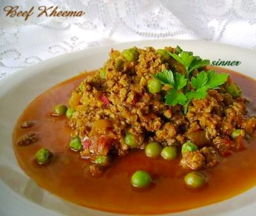
<path id="1" fill-rule="evenodd" d="M 78 135 L 82 143 L 90 140 L 90 146 L 84 145 L 81 151 L 83 157 L 93 158 L 102 152 L 105 155 L 128 153 L 131 146 L 124 141 L 127 132 L 132 134 L 138 144 L 136 148 L 140 149 L 145 148 L 148 141 L 163 146 L 174 144 L 178 148 L 185 141 L 193 141 L 198 150 L 186 152 L 180 162 L 190 169 L 216 166 L 217 152 L 226 157 L 243 150 L 244 141 L 230 136 L 235 129 L 253 135 L 256 118 L 246 116 L 243 97 L 227 92 L 231 79 L 220 89 L 209 89 L 204 99 L 191 100 L 188 113 L 184 114 L 181 105 L 165 104 L 163 89 L 169 86 L 163 86 L 159 93 L 147 90 L 152 74 L 165 69 L 185 74 L 184 66 L 172 58 L 164 59 L 152 47 L 133 49 L 138 53 L 134 61 L 127 61 L 122 52 L 111 50 L 104 67 L 87 77 L 72 93 L 70 107 L 75 112 L 68 121 L 72 136 Z M 165 49 L 177 53 L 172 47 Z M 196 73 L 197 70 L 192 74 Z M 91 167 L 93 169 L 96 170 Z M 97 167 L 97 172 L 99 170 Z"/>

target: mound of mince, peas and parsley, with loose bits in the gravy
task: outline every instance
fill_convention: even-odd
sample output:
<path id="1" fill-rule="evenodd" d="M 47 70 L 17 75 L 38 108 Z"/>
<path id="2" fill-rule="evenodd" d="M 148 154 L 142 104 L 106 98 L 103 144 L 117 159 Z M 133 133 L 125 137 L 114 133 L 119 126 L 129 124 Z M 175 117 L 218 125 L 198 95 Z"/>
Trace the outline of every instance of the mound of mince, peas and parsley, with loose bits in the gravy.
<path id="1" fill-rule="evenodd" d="M 69 106 L 56 105 L 51 115 L 67 117 L 69 147 L 89 160 L 88 171 L 100 176 L 111 161 L 140 149 L 150 158 L 180 158 L 189 187 L 205 185 L 200 171 L 218 166 L 220 157 L 246 148 L 255 136 L 256 118 L 227 73 L 208 70 L 208 59 L 176 48 L 111 50 L 103 68 L 72 91 Z M 33 127 L 25 121 L 20 128 Z M 18 145 L 35 143 L 35 133 Z M 54 155 L 36 152 L 38 164 Z M 147 187 L 152 176 L 142 170 L 131 176 L 134 187 Z"/>

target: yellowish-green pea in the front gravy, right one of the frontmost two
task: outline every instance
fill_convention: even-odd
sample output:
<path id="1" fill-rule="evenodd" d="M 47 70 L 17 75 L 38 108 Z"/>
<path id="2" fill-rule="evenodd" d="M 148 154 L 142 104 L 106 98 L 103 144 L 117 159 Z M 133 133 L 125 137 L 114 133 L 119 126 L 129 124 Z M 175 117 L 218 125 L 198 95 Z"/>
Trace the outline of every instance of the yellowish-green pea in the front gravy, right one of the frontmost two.
<path id="1" fill-rule="evenodd" d="M 205 185 L 205 175 L 200 172 L 191 172 L 186 174 L 184 181 L 188 187 L 192 187 L 194 189 L 198 189 Z"/>

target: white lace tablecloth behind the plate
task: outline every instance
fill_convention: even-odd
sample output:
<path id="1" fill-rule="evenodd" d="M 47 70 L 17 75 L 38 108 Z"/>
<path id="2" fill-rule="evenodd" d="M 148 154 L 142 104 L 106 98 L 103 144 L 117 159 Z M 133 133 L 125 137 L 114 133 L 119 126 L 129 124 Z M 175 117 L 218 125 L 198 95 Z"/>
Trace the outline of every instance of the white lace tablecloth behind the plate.
<path id="1" fill-rule="evenodd" d="M 24 21 L 5 17 L 7 5 L 58 6 L 85 15 Z M 0 9 L 0 79 L 60 54 L 132 40 L 204 39 L 256 49 L 253 0 L 1 0 Z"/>

